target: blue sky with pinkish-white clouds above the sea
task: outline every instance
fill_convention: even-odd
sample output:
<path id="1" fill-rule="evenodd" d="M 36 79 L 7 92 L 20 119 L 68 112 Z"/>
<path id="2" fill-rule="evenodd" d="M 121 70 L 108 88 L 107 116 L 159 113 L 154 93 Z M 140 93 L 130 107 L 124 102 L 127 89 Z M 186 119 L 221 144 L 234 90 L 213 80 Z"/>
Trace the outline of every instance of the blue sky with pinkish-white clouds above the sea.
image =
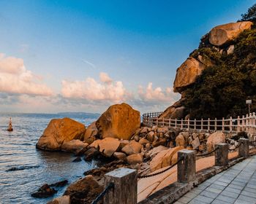
<path id="1" fill-rule="evenodd" d="M 163 111 L 201 36 L 253 4 L 0 0 L 0 112 Z"/>

